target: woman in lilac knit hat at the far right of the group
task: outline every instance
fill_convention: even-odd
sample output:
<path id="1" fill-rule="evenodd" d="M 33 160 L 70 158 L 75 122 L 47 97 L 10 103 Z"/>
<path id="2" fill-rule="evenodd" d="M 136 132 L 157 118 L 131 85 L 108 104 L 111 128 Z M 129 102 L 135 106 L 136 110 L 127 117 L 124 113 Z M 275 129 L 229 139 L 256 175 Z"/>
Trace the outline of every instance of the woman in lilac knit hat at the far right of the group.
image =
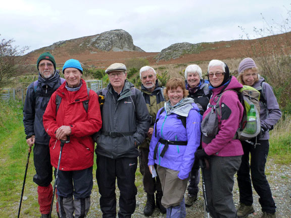
<path id="1" fill-rule="evenodd" d="M 260 91 L 260 121 L 261 133 L 252 140 L 241 141 L 244 155 L 237 172 L 239 188 L 239 207 L 237 216 L 247 217 L 253 213 L 253 187 L 260 196 L 259 202 L 262 206 L 262 216 L 276 217 L 276 206 L 272 197 L 271 189 L 265 175 L 265 164 L 269 152 L 269 130 L 281 117 L 281 111 L 272 87 L 258 74 L 256 63 L 251 58 L 245 58 L 238 66 L 237 80 L 243 84 L 256 88 Z M 251 154 L 251 164 L 250 157 Z M 251 176 L 250 176 L 251 171 Z"/>

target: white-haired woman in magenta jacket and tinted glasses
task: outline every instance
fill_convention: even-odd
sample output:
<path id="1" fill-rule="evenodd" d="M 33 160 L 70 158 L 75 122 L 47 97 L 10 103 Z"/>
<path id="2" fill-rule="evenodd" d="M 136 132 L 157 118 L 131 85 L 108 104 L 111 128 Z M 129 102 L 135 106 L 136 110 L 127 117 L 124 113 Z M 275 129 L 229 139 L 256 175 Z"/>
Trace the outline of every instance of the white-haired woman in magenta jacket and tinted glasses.
<path id="1" fill-rule="evenodd" d="M 234 90 L 238 91 L 243 85 L 229 75 L 228 67 L 222 61 L 212 60 L 207 76 L 213 94 L 203 115 L 203 149 L 197 150 L 195 155 L 209 161 L 209 168 L 203 169 L 203 172 L 210 215 L 213 218 L 234 218 L 233 177 L 244 153 L 240 141 L 235 139 L 244 107 Z M 217 113 L 217 102 L 221 113 Z"/>

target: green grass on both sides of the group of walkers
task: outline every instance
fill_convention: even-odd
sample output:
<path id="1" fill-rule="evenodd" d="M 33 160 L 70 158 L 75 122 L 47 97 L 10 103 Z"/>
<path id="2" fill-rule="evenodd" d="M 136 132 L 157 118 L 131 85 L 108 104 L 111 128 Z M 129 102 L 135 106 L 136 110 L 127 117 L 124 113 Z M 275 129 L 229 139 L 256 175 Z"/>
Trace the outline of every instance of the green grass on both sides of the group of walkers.
<path id="1" fill-rule="evenodd" d="M 281 119 L 271 134 L 269 156 L 276 159 L 279 164 L 289 164 L 291 162 L 290 117 Z M 17 103 L 0 102 L 0 144 L 0 217 L 17 217 L 28 155 L 22 123 L 22 107 Z M 95 170 L 94 165 L 93 175 Z M 31 152 L 24 191 L 27 199 L 22 201 L 21 217 L 39 217 L 36 184 L 32 181 L 34 173 L 33 152 Z M 136 186 L 138 194 L 143 193 L 139 170 L 136 171 Z M 93 189 L 98 190 L 95 181 Z M 93 208 L 90 212 L 94 212 Z M 57 217 L 55 210 L 53 215 Z"/>

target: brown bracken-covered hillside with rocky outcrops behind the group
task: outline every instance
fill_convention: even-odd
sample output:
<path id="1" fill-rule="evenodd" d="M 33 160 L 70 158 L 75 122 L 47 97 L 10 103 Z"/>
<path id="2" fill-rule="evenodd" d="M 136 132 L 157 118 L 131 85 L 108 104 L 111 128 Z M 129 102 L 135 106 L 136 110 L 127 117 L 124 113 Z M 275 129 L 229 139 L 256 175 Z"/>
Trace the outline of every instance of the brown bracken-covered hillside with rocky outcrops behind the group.
<path id="1" fill-rule="evenodd" d="M 151 66 L 199 63 L 212 59 L 240 59 L 272 53 L 274 41 L 278 49 L 290 50 L 286 45 L 291 32 L 252 40 L 231 40 L 191 44 L 177 42 L 161 52 L 146 52 L 133 44 L 131 35 L 124 30 L 110 30 L 93 36 L 56 42 L 28 53 L 27 64 L 34 65 L 40 53 L 50 51 L 61 67 L 68 59 L 79 60 L 85 68 L 106 68 L 115 62 L 133 58 L 147 59 Z M 262 46 L 263 45 L 263 46 Z M 256 49 L 256 50 L 254 50 Z M 255 52 L 255 53 L 252 53 Z"/>

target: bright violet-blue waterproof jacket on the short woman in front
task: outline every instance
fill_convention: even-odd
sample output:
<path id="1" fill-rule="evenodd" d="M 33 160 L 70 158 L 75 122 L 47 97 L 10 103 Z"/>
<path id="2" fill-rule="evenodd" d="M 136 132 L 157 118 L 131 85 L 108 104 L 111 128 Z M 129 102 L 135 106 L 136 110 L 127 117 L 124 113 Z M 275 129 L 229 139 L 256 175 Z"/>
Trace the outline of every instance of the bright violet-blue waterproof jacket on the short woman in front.
<path id="1" fill-rule="evenodd" d="M 150 144 L 148 165 L 156 163 L 161 167 L 179 171 L 178 178 L 181 180 L 189 177 L 194 162 L 194 154 L 200 145 L 202 116 L 199 114 L 196 103 L 191 105 L 193 108 L 186 117 L 186 128 L 178 119 L 178 115 L 173 113 L 167 115 L 166 111 L 160 115 L 161 108 L 157 114 L 159 121 L 155 124 L 157 128 L 154 128 Z M 157 137 L 155 137 L 156 129 Z M 160 154 L 164 144 L 159 142 L 160 138 L 170 141 L 187 141 L 188 143 L 187 145 L 169 145 L 164 157 L 161 157 Z M 158 152 L 157 159 L 154 159 L 156 145 L 158 146 Z"/>

